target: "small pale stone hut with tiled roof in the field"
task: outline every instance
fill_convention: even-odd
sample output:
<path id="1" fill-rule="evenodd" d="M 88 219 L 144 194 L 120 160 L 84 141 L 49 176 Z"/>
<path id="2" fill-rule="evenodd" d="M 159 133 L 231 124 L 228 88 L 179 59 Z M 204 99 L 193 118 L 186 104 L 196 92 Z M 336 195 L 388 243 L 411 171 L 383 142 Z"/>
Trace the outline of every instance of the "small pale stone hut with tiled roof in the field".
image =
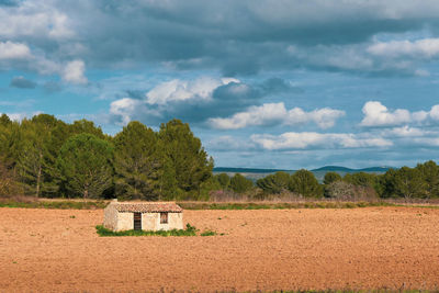
<path id="1" fill-rule="evenodd" d="M 117 202 L 104 209 L 103 226 L 112 230 L 183 228 L 183 209 L 172 202 Z"/>

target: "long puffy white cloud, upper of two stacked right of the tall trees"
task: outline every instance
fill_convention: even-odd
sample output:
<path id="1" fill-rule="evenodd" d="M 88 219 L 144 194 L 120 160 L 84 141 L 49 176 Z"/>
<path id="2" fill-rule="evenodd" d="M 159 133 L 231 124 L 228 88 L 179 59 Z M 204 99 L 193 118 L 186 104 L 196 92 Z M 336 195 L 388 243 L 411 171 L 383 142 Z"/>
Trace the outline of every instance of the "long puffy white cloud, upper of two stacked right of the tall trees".
<path id="1" fill-rule="evenodd" d="M 238 129 L 247 126 L 268 126 L 274 124 L 300 125 L 314 122 L 320 128 L 334 126 L 337 119 L 345 112 L 329 108 L 305 112 L 301 108 L 286 110 L 283 102 L 264 103 L 250 106 L 246 112 L 239 112 L 227 119 L 210 119 L 209 124 L 218 129 Z"/>

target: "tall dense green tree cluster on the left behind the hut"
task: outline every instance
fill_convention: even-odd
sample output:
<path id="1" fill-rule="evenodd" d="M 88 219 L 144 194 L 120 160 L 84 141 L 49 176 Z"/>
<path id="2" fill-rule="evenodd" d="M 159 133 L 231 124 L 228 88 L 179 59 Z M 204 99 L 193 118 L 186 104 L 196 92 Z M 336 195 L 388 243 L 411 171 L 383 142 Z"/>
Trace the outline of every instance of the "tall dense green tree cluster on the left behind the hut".
<path id="1" fill-rule="evenodd" d="M 87 120 L 0 116 L 0 194 L 45 198 L 202 199 L 213 159 L 188 124 L 158 132 L 131 122 L 114 136 Z"/>

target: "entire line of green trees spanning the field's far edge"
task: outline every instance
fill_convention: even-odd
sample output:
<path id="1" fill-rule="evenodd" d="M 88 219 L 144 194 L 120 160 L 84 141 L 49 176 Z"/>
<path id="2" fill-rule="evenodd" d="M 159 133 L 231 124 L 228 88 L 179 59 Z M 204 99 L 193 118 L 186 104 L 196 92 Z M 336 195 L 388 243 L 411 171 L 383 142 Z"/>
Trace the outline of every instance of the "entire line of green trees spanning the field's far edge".
<path id="1" fill-rule="evenodd" d="M 0 195 L 209 200 L 214 191 L 266 199 L 284 193 L 340 200 L 439 198 L 435 161 L 384 174 L 327 172 L 323 183 L 302 169 L 256 182 L 240 173 L 213 176 L 213 159 L 179 120 L 158 132 L 131 122 L 114 136 L 87 120 L 65 123 L 38 114 L 21 122 L 0 116 Z"/>

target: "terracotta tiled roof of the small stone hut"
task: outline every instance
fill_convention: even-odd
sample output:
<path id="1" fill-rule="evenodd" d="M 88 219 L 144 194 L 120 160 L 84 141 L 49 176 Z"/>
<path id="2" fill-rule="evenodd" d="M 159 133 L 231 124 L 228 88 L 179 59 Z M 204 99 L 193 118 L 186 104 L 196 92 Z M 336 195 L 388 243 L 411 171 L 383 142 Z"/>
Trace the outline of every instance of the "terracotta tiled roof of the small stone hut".
<path id="1" fill-rule="evenodd" d="M 138 203 L 112 203 L 117 212 L 124 213 L 181 213 L 181 209 L 178 204 L 172 202 L 138 202 Z"/>

